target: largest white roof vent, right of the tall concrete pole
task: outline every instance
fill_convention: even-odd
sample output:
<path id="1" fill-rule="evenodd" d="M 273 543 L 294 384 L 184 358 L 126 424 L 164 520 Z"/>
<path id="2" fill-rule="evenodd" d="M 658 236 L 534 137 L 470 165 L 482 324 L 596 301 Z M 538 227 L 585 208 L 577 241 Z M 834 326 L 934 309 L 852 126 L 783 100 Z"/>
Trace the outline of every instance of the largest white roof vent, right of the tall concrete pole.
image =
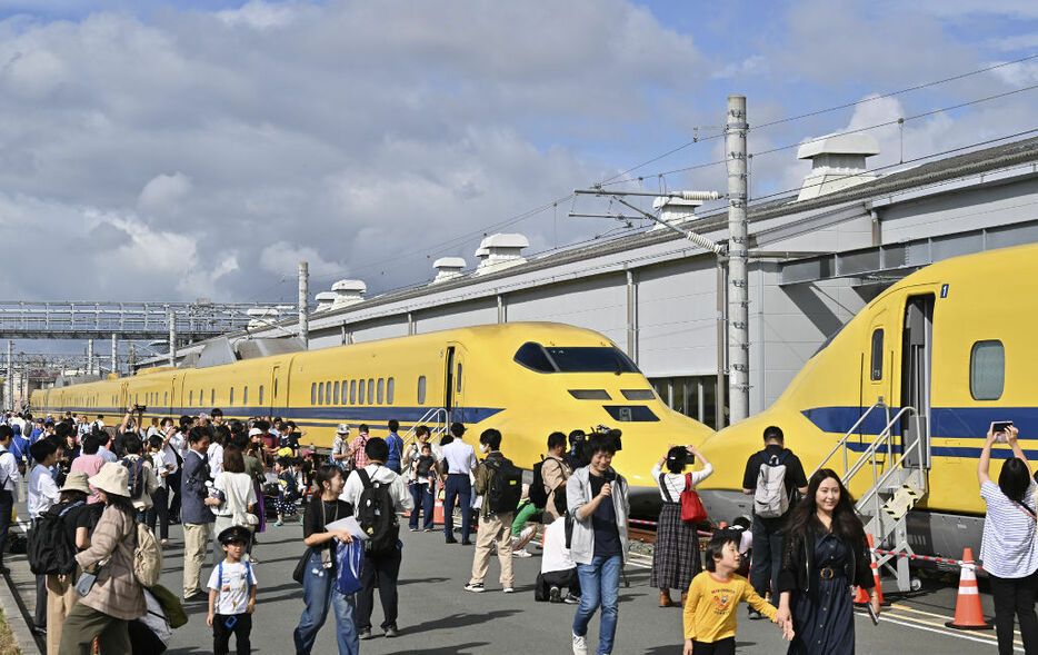
<path id="1" fill-rule="evenodd" d="M 865 166 L 866 157 L 879 155 L 871 135 L 832 135 L 814 139 L 797 149 L 797 159 L 810 159 L 811 172 L 804 178 L 797 200 L 809 200 L 876 179 Z"/>

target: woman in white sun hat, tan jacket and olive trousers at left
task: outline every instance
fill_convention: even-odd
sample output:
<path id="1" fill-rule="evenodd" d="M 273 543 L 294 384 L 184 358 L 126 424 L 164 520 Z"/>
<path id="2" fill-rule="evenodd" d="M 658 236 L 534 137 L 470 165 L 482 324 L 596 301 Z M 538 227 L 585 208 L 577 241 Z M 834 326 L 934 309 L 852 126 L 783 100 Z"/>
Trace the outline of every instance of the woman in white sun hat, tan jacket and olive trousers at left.
<path id="1" fill-rule="evenodd" d="M 69 612 L 59 655 L 87 655 L 94 637 L 101 653 L 130 653 L 129 622 L 143 616 L 147 605 L 133 575 L 137 509 L 130 502 L 129 473 L 120 464 L 107 463 L 89 482 L 101 496 L 104 512 L 90 547 L 76 556 L 76 564 L 83 570 L 104 564 L 93 586 Z"/>

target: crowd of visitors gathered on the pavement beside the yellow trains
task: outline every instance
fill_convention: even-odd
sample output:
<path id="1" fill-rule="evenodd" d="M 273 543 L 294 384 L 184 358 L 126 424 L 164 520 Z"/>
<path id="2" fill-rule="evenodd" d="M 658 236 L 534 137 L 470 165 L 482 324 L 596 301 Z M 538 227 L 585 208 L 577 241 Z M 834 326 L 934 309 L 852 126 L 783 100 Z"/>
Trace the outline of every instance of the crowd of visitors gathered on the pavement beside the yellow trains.
<path id="1" fill-rule="evenodd" d="M 525 484 L 507 457 L 507 435 L 493 428 L 467 440 L 466 427 L 456 423 L 433 441 L 427 426 L 417 426 L 408 444 L 396 420 L 389 421 L 387 438 L 370 436 L 366 425 L 351 436 L 352 426 L 341 424 L 330 453 L 318 453 L 302 448 L 302 433 L 278 418 L 224 421 L 213 409 L 146 426 L 139 416 L 131 408 L 114 430 L 101 416 L 93 421 L 21 417 L 22 426 L 0 425 L 0 557 L 4 524 L 27 473 L 33 529 L 58 520 L 71 554 L 58 569 L 38 576 L 38 598 L 46 602 L 37 603 L 36 628 L 46 633 L 48 653 L 87 653 L 96 637 L 101 653 L 132 651 L 139 619 L 153 601 L 133 575 L 139 523 L 156 530 L 162 545 L 169 525 L 182 525 L 183 585 L 174 599 L 208 604 L 216 653 L 228 653 L 232 637 L 238 653 L 248 653 L 259 584 L 256 535 L 267 528 L 268 504 L 275 525 L 298 520 L 302 526 L 295 577 L 302 585 L 303 609 L 292 635 L 296 652 L 311 652 L 333 609 L 339 653 L 359 653 L 360 642 L 372 636 L 376 592 L 379 629 L 386 637 L 399 634 L 399 517 L 409 514 L 411 532 L 435 532 L 438 496 L 445 542 L 473 546 L 466 592 L 489 591 L 496 555 L 500 589 L 513 593 L 513 558 L 530 556 L 526 546 L 542 524 L 536 599 L 576 606 L 575 655 L 589 652 L 596 614 L 597 653 L 613 651 L 630 513 L 628 483 L 612 467 L 621 448 L 618 430 L 552 433 L 532 484 Z M 687 470 L 690 466 L 695 470 Z M 782 431 L 767 428 L 763 448 L 749 457 L 743 475 L 743 493 L 753 496 L 752 517 L 716 530 L 701 550 L 686 505 L 712 473 L 693 446 L 669 447 L 651 470 L 661 510 L 650 584 L 659 589 L 660 607 L 683 607 L 686 653 L 733 653 L 740 601 L 750 618 L 766 616 L 780 626 L 790 653 L 852 653 L 849 588 L 871 589 L 872 577 L 864 528 L 839 476 L 821 469 L 807 479 Z M 986 477 L 981 482 L 990 504 L 997 487 Z M 1030 490 L 1026 498 L 1005 487 L 1001 493 L 1017 504 L 1030 499 Z M 1034 525 L 1029 529 L 1032 534 Z M 207 564 L 210 543 L 213 557 Z M 358 553 L 363 565 L 353 567 L 350 557 Z M 1021 557 L 1026 562 L 1005 577 L 1019 578 L 1021 572 L 1034 577 L 1034 550 Z M 680 601 L 671 597 L 672 589 Z M 1024 593 L 1018 582 L 1007 582 L 997 607 L 1018 603 L 1012 598 Z M 871 597 L 878 612 L 875 591 Z M 1025 641 L 1029 619 L 1021 615 Z M 150 629 L 150 635 L 168 638 L 169 631 Z"/>

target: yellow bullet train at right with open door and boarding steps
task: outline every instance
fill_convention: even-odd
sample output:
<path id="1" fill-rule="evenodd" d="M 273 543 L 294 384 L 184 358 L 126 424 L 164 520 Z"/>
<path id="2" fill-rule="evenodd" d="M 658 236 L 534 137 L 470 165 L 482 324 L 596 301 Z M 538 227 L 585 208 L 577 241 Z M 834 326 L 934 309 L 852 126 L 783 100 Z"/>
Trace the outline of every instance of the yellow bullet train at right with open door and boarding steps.
<path id="1" fill-rule="evenodd" d="M 921 455 L 927 494 L 908 513 L 908 543 L 919 554 L 959 557 L 979 547 L 985 504 L 977 460 L 991 421 L 1011 420 L 1026 455 L 1038 464 L 1038 245 L 968 255 L 927 266 L 880 294 L 824 345 L 767 410 L 708 438 L 703 455 L 716 473 L 699 488 L 715 518 L 748 515 L 746 460 L 762 448 L 769 425 L 810 473 L 860 420 L 848 439 L 849 462 L 865 451 L 888 417 L 892 454 L 879 473 L 908 453 Z M 870 411 L 878 403 L 882 406 Z M 888 414 L 889 411 L 889 414 Z M 916 445 L 918 444 L 918 449 Z M 992 477 L 1007 446 L 996 446 Z M 842 474 L 842 455 L 827 464 Z M 855 476 L 851 494 L 872 484 Z"/>

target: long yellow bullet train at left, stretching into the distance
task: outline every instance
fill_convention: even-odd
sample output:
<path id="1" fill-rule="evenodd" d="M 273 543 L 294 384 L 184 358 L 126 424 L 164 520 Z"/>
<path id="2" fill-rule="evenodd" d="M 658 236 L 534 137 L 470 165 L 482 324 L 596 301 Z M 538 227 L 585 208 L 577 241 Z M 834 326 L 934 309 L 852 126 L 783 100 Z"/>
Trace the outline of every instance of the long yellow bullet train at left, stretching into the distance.
<path id="1" fill-rule="evenodd" d="M 615 459 L 633 504 L 658 504 L 652 465 L 670 443 L 700 441 L 707 426 L 673 411 L 637 366 L 602 335 L 561 324 L 511 322 L 247 359 L 32 394 L 32 410 L 146 418 L 223 410 L 227 418 L 281 416 L 329 447 L 335 426 L 367 423 L 385 435 L 431 423 L 437 408 L 478 435 L 495 427 L 503 451 L 531 468 L 551 431 L 607 425 L 623 431 Z M 440 414 L 443 416 L 443 414 Z M 655 503 L 653 503 L 655 502 Z"/>

